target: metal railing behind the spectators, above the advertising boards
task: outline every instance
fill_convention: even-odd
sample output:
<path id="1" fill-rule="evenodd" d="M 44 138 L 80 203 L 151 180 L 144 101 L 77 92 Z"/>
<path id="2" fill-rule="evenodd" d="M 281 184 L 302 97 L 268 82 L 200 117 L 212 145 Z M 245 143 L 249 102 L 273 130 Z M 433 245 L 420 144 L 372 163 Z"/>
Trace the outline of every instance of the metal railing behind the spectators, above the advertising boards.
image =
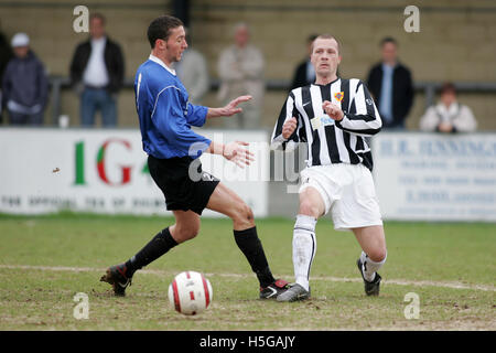
<path id="1" fill-rule="evenodd" d="M 266 82 L 266 88 L 268 90 L 283 90 L 288 92 L 290 87 L 289 79 L 268 79 Z M 441 87 L 441 82 L 416 82 L 416 93 L 423 93 L 425 97 L 425 108 L 435 103 L 435 93 Z M 134 81 L 132 78 L 126 78 L 123 83 L 125 89 L 132 89 Z M 493 93 L 496 94 L 496 82 L 454 82 L 454 85 L 460 93 Z M 64 76 L 51 76 L 51 105 L 52 105 L 52 122 L 58 124 L 58 116 L 61 115 L 62 90 L 71 88 L 71 81 Z M 219 86 L 218 79 L 211 79 L 211 90 L 217 90 Z"/>

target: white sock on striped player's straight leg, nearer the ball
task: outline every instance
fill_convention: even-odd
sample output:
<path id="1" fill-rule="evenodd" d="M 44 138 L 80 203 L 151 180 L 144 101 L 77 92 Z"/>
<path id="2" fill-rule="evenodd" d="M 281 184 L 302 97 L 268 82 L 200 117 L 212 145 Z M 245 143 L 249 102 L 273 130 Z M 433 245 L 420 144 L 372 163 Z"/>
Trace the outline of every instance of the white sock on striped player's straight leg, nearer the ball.
<path id="1" fill-rule="evenodd" d="M 316 220 L 299 214 L 293 231 L 293 267 L 296 284 L 309 290 L 310 268 L 315 256 Z"/>

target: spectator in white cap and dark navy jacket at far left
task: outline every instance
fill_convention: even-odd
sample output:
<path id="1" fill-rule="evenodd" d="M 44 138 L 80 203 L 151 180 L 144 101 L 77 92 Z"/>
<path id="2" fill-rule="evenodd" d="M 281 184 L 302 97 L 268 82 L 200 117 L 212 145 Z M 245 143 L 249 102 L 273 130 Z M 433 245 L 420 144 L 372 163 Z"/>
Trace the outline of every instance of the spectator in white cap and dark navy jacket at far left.
<path id="1" fill-rule="evenodd" d="M 48 79 L 43 63 L 30 49 L 30 38 L 12 38 L 14 57 L 7 64 L 2 78 L 2 106 L 11 125 L 43 125 Z"/>

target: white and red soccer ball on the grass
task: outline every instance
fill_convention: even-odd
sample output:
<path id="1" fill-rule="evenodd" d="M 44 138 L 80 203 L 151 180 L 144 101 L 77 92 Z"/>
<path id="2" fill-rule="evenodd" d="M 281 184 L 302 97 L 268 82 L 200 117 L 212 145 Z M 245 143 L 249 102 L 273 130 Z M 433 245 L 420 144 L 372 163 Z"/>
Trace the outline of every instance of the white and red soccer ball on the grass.
<path id="1" fill-rule="evenodd" d="M 212 302 L 212 286 L 208 279 L 195 271 L 184 271 L 174 277 L 169 286 L 169 301 L 176 311 L 195 315 Z"/>

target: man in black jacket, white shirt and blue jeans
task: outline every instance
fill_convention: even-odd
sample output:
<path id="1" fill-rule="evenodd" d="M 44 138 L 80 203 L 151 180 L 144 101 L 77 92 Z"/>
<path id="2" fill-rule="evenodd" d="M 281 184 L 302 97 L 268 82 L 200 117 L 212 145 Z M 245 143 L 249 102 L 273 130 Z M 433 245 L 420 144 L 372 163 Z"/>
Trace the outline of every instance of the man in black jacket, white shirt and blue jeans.
<path id="1" fill-rule="evenodd" d="M 104 127 L 117 126 L 117 94 L 122 87 L 125 61 L 119 44 L 105 31 L 99 13 L 89 19 L 90 39 L 77 45 L 71 63 L 71 82 L 80 94 L 80 124 L 90 127 L 101 111 Z"/>

